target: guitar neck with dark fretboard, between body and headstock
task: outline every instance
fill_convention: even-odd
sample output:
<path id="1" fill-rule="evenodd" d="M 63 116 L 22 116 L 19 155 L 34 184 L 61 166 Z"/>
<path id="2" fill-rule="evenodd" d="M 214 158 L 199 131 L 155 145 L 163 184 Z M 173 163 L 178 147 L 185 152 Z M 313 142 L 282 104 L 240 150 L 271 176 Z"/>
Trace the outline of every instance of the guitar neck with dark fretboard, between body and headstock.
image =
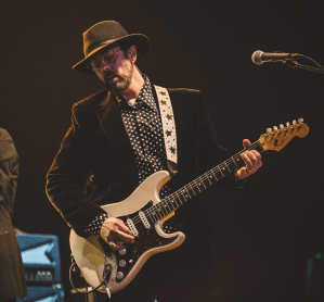
<path id="1" fill-rule="evenodd" d="M 245 166 L 245 162 L 241 159 L 241 154 L 246 150 L 257 150 L 258 152 L 264 151 L 263 147 L 261 146 L 261 142 L 257 140 L 247 149 L 239 151 L 235 155 L 212 167 L 198 178 L 189 183 L 186 186 L 168 196 L 161 202 L 152 206 L 150 211 L 146 213 L 147 216 L 151 217 L 152 223 L 155 223 L 158 219 L 168 215 L 169 213 L 173 212 L 176 209 L 180 207 L 186 201 L 196 197 L 210 186 L 215 185 L 216 183 L 220 181 L 221 179 L 233 173 L 236 168 Z"/>

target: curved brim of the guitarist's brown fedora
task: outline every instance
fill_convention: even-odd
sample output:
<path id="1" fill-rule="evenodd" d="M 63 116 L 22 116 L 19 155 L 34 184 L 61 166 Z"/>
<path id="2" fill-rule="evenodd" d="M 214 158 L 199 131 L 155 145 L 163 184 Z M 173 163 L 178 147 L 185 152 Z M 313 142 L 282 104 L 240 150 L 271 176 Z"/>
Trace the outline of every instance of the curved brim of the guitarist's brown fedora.
<path id="1" fill-rule="evenodd" d="M 81 60 L 80 62 L 78 62 L 77 64 L 75 64 L 73 66 L 73 70 L 80 72 L 82 74 L 94 74 L 92 71 L 90 71 L 88 68 L 88 64 L 91 61 L 92 56 L 100 50 L 108 47 L 109 45 L 114 43 L 114 42 L 125 42 L 128 43 L 129 46 L 134 45 L 137 47 L 137 51 L 138 51 L 138 60 L 142 59 L 146 52 L 150 49 L 150 40 L 145 35 L 142 34 L 132 34 L 132 35 L 128 35 L 125 36 L 122 38 L 118 38 L 118 39 L 112 39 L 106 41 L 104 45 L 99 46 L 98 48 L 95 48 L 94 50 L 92 50 L 90 53 L 88 53 L 88 55 Z"/>

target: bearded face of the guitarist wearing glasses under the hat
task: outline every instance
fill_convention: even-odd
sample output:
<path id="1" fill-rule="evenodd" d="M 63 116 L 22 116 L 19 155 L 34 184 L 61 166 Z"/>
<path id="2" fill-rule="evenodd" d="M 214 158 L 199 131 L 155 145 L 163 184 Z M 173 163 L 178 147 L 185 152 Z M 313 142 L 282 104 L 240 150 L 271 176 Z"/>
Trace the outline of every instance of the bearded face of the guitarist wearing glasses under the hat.
<path id="1" fill-rule="evenodd" d="M 121 93 L 129 87 L 134 66 L 118 45 L 96 53 L 90 64 L 109 91 Z"/>

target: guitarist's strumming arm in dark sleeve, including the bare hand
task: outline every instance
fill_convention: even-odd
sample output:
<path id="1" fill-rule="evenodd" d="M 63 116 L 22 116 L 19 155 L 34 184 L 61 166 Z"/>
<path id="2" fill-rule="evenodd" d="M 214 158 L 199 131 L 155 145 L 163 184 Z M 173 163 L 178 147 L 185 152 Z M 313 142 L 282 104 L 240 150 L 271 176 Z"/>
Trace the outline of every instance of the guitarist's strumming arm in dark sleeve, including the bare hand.
<path id="1" fill-rule="evenodd" d="M 79 109 L 74 105 L 72 125 L 48 173 L 47 194 L 76 234 L 81 237 L 101 236 L 113 249 L 120 250 L 125 247 L 117 242 L 132 243 L 132 232 L 122 221 L 108 217 L 81 190 L 90 169 L 82 124 Z"/>

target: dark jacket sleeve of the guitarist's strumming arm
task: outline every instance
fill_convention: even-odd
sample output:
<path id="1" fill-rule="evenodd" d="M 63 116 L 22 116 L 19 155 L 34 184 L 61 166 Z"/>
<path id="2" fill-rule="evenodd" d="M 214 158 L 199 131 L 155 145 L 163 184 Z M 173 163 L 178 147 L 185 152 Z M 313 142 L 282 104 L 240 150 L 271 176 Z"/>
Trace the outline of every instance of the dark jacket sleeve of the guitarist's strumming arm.
<path id="1" fill-rule="evenodd" d="M 87 237 L 86 226 L 105 211 L 82 191 L 90 172 L 90 159 L 81 119 L 78 105 L 75 104 L 72 125 L 47 175 L 47 194 L 67 224 L 79 236 Z"/>

